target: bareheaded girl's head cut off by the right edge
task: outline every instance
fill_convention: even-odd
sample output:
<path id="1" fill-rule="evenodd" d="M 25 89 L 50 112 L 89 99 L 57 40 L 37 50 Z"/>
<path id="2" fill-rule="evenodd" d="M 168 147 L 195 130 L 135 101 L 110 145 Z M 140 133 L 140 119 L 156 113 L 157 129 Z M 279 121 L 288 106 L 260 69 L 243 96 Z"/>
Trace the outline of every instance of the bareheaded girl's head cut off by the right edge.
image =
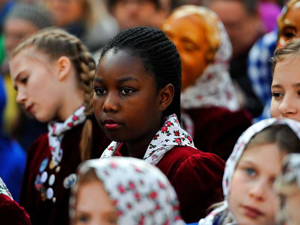
<path id="1" fill-rule="evenodd" d="M 300 121 L 300 39 L 279 46 L 272 57 L 271 116 Z"/>

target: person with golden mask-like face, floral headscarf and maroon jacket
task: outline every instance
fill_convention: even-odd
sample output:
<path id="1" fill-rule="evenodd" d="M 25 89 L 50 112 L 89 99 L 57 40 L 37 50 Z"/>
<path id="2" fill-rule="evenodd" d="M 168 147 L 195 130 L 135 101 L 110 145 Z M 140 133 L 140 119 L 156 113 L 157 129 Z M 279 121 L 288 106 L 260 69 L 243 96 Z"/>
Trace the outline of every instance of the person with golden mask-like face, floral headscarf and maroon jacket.
<path id="1" fill-rule="evenodd" d="M 229 75 L 232 47 L 222 22 L 208 8 L 181 6 L 162 29 L 182 59 L 182 122 L 203 152 L 226 161 L 238 137 L 251 126 Z"/>

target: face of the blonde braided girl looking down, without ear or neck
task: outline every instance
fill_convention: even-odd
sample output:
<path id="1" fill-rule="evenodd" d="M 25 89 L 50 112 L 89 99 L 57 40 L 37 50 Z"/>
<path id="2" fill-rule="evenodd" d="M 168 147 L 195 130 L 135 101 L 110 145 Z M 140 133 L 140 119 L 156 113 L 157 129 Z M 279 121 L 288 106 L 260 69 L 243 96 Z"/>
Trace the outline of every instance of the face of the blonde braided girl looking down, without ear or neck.
<path id="1" fill-rule="evenodd" d="M 40 122 L 52 120 L 59 107 L 56 67 L 49 57 L 28 47 L 10 61 L 10 75 L 18 91 L 17 102 Z"/>

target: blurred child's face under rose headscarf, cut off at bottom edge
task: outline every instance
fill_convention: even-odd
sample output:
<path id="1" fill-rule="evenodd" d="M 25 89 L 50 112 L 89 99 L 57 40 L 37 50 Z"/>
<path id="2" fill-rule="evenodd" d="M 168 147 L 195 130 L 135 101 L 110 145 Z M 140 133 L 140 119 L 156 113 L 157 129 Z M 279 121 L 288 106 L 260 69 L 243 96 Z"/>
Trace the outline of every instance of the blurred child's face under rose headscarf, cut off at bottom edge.
<path id="1" fill-rule="evenodd" d="M 73 225 L 113 225 L 117 221 L 113 202 L 100 181 L 79 186 Z"/>

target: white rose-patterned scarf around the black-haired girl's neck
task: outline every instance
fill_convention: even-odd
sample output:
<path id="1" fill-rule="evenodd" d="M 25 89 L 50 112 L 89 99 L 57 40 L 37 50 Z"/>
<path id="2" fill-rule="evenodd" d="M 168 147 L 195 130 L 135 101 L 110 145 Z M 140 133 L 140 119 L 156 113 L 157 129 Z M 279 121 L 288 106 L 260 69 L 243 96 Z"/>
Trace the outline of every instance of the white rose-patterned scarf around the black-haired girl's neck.
<path id="1" fill-rule="evenodd" d="M 120 145 L 121 143 L 113 141 L 104 150 L 100 159 L 107 159 L 114 156 Z M 165 118 L 164 126 L 153 137 L 143 161 L 156 165 L 166 152 L 175 146 L 189 146 L 196 149 L 192 138 L 180 127 L 177 116 L 173 114 Z"/>

